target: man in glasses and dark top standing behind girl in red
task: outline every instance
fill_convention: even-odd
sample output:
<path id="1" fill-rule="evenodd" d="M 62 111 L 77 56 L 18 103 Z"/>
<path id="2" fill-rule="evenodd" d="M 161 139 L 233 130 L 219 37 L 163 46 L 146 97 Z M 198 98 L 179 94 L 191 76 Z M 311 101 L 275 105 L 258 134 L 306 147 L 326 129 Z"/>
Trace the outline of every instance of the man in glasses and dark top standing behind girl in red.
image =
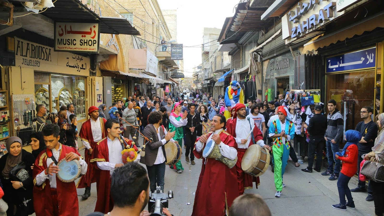
<path id="1" fill-rule="evenodd" d="M 358 157 L 358 174 L 360 174 L 360 163 L 362 161 L 362 156 L 371 152 L 372 147 L 374 146 L 374 140 L 377 137 L 377 125 L 374 121 L 372 121 L 372 108 L 369 106 L 364 106 L 360 110 L 360 116 L 364 121 L 360 121 L 358 125 L 356 125 L 355 130 L 359 131 L 362 135 L 361 140 L 357 143 L 359 148 L 359 157 Z M 368 181 L 368 196 L 365 199 L 366 201 L 373 201 L 373 191 L 372 185 Z M 365 181 L 360 181 L 358 183 L 358 187 L 351 189 L 351 192 L 365 192 L 366 186 Z"/>

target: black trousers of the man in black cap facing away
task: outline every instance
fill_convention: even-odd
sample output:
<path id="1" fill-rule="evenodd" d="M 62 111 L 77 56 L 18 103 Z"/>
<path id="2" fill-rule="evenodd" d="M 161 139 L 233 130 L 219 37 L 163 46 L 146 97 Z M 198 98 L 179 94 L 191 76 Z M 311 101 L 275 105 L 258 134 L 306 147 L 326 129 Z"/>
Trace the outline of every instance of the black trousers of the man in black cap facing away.
<path id="1" fill-rule="evenodd" d="M 324 137 L 319 138 L 310 138 L 310 142 L 308 143 L 308 170 L 313 169 L 313 161 L 314 161 L 314 153 L 316 152 L 316 164 L 314 165 L 314 169 L 320 170 L 321 164 L 323 162 L 323 148 L 324 148 Z"/>

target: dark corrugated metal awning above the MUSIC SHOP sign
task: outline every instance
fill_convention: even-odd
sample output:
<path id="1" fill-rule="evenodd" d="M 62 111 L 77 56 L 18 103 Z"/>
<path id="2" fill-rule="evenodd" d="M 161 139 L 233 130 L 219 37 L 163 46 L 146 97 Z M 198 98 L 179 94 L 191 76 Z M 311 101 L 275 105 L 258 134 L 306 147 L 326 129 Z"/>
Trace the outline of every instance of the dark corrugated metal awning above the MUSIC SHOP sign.
<path id="1" fill-rule="evenodd" d="M 63 22 L 100 22 L 100 33 L 140 35 L 136 28 L 126 18 L 99 17 L 95 12 L 83 4 L 81 0 L 60 0 L 55 2 L 55 7 L 42 12 L 52 20 Z"/>

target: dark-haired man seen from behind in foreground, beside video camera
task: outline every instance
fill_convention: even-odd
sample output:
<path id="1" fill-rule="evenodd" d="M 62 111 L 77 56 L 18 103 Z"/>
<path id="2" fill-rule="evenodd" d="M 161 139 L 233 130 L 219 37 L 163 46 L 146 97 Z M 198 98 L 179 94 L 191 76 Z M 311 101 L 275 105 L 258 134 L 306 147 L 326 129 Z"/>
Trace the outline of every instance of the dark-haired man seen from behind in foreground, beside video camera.
<path id="1" fill-rule="evenodd" d="M 149 179 L 146 170 L 138 163 L 127 163 L 116 168 L 111 178 L 111 198 L 114 201 L 112 211 L 104 214 L 94 212 L 88 216 L 150 216 L 144 210 L 149 201 Z M 168 209 L 162 213 L 171 216 Z"/>

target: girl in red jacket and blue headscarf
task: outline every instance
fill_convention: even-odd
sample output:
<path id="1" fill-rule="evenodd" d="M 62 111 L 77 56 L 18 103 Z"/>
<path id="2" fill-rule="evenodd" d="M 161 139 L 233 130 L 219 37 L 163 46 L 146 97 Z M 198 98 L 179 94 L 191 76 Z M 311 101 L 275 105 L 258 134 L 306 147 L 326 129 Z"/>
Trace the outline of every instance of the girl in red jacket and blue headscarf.
<path id="1" fill-rule="evenodd" d="M 357 171 L 359 153 L 357 143 L 361 140 L 361 133 L 355 130 L 345 131 L 345 140 L 347 143 L 345 144 L 343 151 L 341 153 L 335 153 L 335 158 L 341 160 L 343 163 L 337 181 L 340 203 L 332 205 L 333 208 L 343 211 L 347 210 L 347 206 L 349 208 L 355 208 L 351 191 L 348 188 L 348 182 Z M 348 203 L 346 203 L 345 196 L 347 196 Z"/>

